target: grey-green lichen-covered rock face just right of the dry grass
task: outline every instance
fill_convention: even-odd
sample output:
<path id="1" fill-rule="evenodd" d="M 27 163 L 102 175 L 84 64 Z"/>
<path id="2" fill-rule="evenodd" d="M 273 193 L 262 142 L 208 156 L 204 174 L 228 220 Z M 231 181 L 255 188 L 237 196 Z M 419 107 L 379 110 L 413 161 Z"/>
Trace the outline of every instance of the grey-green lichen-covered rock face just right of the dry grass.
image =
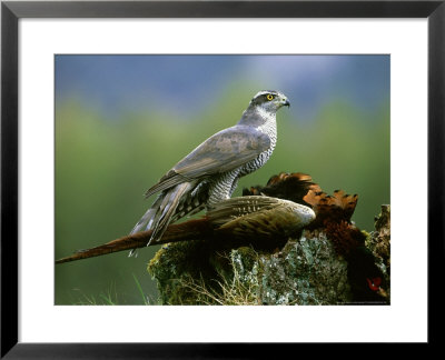
<path id="1" fill-rule="evenodd" d="M 336 304 L 350 300 L 347 263 L 326 236 L 306 231 L 278 253 L 261 257 L 261 303 Z"/>

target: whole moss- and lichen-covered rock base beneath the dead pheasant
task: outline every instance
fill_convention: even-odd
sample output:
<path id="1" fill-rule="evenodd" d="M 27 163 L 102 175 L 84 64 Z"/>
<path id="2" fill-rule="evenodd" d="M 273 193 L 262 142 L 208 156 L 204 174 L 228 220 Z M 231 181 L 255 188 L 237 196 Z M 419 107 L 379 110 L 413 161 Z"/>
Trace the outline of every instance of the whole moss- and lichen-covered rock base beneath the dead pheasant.
<path id="1" fill-rule="evenodd" d="M 284 242 L 169 243 L 157 252 L 148 271 L 158 282 L 162 304 L 387 304 L 389 210 L 383 206 L 375 231 L 364 232 L 364 250 L 384 278 L 378 294 L 366 294 L 374 283 L 354 268 L 362 260 L 339 254 L 323 230 L 304 230 Z"/>

